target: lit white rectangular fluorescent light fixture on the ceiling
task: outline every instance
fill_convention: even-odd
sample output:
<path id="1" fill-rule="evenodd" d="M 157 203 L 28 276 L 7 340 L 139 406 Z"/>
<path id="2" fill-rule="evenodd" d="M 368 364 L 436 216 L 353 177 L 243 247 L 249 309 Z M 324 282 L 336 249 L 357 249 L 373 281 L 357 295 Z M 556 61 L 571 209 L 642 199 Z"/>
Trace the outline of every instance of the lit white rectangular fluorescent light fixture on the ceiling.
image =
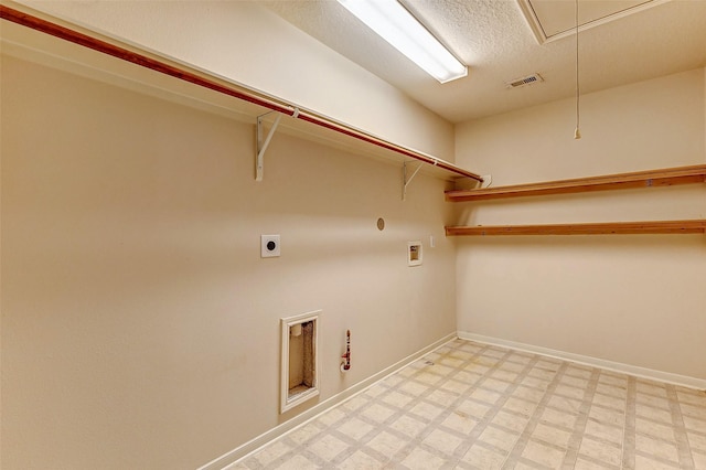
<path id="1" fill-rule="evenodd" d="M 397 0 L 338 0 L 370 29 L 441 83 L 468 75 L 468 67 Z"/>

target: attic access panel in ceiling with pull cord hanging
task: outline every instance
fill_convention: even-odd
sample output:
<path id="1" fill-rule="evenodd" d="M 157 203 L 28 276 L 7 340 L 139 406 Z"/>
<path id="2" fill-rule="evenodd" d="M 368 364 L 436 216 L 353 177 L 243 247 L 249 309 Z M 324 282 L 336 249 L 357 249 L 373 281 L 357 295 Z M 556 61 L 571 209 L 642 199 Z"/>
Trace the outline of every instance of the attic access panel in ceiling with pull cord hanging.
<path id="1" fill-rule="evenodd" d="M 665 0 L 579 0 L 579 26 L 593 28 Z M 537 42 L 556 41 L 576 30 L 576 0 L 517 0 Z"/>

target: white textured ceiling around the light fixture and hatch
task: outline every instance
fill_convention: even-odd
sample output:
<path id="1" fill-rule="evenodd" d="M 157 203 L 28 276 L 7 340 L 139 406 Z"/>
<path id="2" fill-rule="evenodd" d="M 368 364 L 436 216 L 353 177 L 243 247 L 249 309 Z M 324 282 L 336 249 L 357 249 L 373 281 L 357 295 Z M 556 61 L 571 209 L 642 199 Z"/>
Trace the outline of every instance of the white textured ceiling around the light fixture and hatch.
<path id="1" fill-rule="evenodd" d="M 521 0 L 544 9 L 560 30 L 574 19 L 574 0 Z M 333 0 L 263 1 L 278 15 L 402 89 L 451 122 L 502 114 L 575 94 L 574 34 L 541 44 L 517 0 L 404 0 L 469 65 L 466 78 L 439 84 L 377 38 Z M 641 1 L 580 0 L 620 4 Z M 656 0 L 616 21 L 579 32 L 581 93 L 706 66 L 706 0 Z M 600 6 L 595 6 L 600 7 Z M 556 9 L 561 10 L 558 11 Z M 600 8 L 599 8 L 600 9 Z M 603 13 L 599 13 L 603 14 Z M 558 19 L 558 20 L 557 20 Z M 581 17 L 581 21 L 589 21 Z M 506 83 L 538 73 L 544 82 Z"/>

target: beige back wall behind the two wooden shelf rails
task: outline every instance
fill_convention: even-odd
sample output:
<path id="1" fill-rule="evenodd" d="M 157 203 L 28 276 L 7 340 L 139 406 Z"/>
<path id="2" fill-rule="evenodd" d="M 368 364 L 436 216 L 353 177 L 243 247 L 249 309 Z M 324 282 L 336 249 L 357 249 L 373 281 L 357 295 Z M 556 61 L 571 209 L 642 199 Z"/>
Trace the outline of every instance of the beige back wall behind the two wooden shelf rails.
<path id="1" fill-rule="evenodd" d="M 704 70 L 457 127 L 495 185 L 706 162 Z M 513 92 L 514 93 L 514 92 Z M 700 185 L 457 205 L 471 225 L 706 218 Z M 706 378 L 704 235 L 457 239 L 459 331 Z"/>

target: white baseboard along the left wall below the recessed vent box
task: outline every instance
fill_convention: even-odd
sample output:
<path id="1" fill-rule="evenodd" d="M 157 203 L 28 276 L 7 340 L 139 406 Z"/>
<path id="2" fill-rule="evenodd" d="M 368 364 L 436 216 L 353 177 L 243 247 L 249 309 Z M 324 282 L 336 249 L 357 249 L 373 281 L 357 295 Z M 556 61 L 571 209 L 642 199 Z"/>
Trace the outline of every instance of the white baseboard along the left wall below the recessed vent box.
<path id="1" fill-rule="evenodd" d="M 428 354 L 429 352 L 441 348 L 443 344 L 448 343 L 449 341 L 453 341 L 456 340 L 458 337 L 454 333 L 451 334 L 447 334 L 446 337 L 441 338 L 438 341 L 435 341 L 434 343 L 431 343 L 430 345 L 422 348 L 421 350 L 417 351 L 416 353 L 413 353 L 410 355 L 408 355 L 407 357 L 396 362 L 395 364 L 391 365 L 389 367 L 386 367 L 384 370 L 382 370 L 381 372 L 378 372 L 377 374 L 374 374 L 372 376 L 370 376 L 368 378 L 359 382 L 357 384 L 353 385 L 352 387 L 336 394 L 333 395 L 332 397 L 321 402 L 320 404 L 313 406 L 312 408 L 307 409 L 306 412 L 303 412 L 302 414 L 291 418 L 290 420 L 282 423 L 279 426 L 276 426 L 274 428 L 271 428 L 270 430 L 268 430 L 267 432 L 264 432 L 259 436 L 257 436 L 256 438 L 245 442 L 244 445 L 236 447 L 235 449 L 224 453 L 221 457 L 215 458 L 214 460 L 210 461 L 208 463 L 204 464 L 203 467 L 200 467 L 197 470 L 227 470 L 229 468 L 232 468 L 231 466 L 237 463 L 239 460 L 248 457 L 250 453 L 256 452 L 257 450 L 259 450 L 263 446 L 269 444 L 270 441 L 284 436 L 287 432 L 293 431 L 295 429 L 299 428 L 300 426 L 306 425 L 307 423 L 309 423 L 310 420 L 314 419 L 315 417 L 318 417 L 319 415 L 321 415 L 322 413 L 328 412 L 329 409 L 333 408 L 336 405 L 342 404 L 343 402 L 353 398 L 355 395 L 364 392 L 365 389 L 367 389 L 368 387 L 375 385 L 377 382 L 388 377 L 389 375 L 396 373 L 397 371 L 399 371 L 400 368 L 409 365 L 410 363 L 413 363 L 414 361 L 418 360 L 419 357 L 422 357 L 425 354 Z"/>

